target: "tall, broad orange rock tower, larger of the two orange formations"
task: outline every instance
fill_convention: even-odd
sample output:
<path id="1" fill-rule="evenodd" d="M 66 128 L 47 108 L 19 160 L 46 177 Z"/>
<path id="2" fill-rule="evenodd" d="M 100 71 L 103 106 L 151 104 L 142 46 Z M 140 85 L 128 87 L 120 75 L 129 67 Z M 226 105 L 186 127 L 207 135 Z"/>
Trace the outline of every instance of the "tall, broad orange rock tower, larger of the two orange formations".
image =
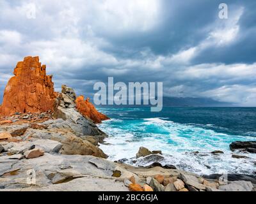
<path id="1" fill-rule="evenodd" d="M 18 62 L 4 90 L 1 115 L 15 112 L 36 113 L 54 110 L 56 93 L 52 76 L 47 76 L 45 65 L 41 66 L 39 57 L 25 57 Z"/>

